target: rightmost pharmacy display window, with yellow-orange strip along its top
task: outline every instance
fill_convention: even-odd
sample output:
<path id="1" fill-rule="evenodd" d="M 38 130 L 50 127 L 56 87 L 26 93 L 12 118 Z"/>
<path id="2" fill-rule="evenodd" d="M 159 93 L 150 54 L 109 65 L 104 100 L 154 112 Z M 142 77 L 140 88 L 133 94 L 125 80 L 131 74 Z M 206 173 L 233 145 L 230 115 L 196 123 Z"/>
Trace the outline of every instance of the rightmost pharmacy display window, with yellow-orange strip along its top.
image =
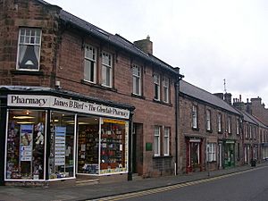
<path id="1" fill-rule="evenodd" d="M 103 119 L 101 124 L 100 174 L 127 172 L 128 123 Z"/>

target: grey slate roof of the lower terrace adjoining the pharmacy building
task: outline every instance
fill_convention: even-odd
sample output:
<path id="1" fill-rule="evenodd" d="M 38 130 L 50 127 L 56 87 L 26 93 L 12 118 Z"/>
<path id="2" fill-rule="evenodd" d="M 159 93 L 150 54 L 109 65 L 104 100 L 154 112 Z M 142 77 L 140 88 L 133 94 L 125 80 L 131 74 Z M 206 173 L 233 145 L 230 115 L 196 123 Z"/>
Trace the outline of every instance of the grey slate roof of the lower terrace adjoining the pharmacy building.
<path id="1" fill-rule="evenodd" d="M 227 104 L 220 97 L 215 96 L 202 88 L 197 88 L 185 80 L 180 81 L 180 93 L 197 98 L 198 100 L 204 101 L 207 104 L 215 105 L 231 113 L 241 115 L 233 106 Z"/>

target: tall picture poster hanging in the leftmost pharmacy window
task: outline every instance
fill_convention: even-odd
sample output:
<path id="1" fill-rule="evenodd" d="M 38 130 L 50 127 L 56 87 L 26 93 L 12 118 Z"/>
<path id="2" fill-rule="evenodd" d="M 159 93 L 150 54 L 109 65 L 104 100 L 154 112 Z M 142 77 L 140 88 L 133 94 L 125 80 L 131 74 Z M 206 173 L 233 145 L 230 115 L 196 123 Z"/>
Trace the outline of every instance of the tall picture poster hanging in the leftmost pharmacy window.
<path id="1" fill-rule="evenodd" d="M 33 125 L 21 124 L 21 134 L 20 134 L 21 161 L 31 162 L 32 160 L 32 137 L 33 137 Z"/>

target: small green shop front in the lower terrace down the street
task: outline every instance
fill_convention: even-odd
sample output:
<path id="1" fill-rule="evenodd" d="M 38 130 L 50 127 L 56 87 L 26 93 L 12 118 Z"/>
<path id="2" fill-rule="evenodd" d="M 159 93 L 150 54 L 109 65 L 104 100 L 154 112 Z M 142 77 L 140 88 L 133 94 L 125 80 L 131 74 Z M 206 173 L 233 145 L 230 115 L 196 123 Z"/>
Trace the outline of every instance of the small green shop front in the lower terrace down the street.
<path id="1" fill-rule="evenodd" d="M 235 140 L 223 140 L 223 167 L 229 168 L 235 166 Z"/>

